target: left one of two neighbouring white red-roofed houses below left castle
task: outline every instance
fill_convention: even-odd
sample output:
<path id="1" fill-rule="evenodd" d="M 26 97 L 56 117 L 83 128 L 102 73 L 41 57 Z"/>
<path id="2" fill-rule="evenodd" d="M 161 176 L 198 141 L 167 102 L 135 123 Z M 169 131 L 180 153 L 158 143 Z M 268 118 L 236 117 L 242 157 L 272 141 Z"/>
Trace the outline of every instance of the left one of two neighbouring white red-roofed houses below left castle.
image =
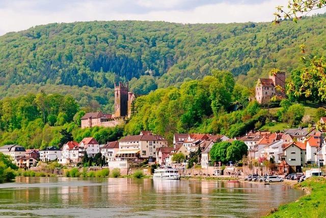
<path id="1" fill-rule="evenodd" d="M 59 163 L 78 163 L 78 142 L 68 141 L 63 145 L 61 150 L 61 157 L 58 160 Z"/>

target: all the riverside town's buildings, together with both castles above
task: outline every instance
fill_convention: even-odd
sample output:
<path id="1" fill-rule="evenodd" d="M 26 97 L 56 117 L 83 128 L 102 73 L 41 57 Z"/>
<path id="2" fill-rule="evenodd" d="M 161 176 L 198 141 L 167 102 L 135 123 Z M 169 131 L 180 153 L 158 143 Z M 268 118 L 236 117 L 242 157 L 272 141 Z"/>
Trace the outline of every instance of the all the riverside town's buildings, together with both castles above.
<path id="1" fill-rule="evenodd" d="M 285 98 L 284 81 L 284 72 L 273 74 L 268 79 L 258 79 L 255 88 L 256 101 L 266 104 L 273 96 Z M 277 90 L 278 86 L 280 90 Z M 128 83 L 120 82 L 115 85 L 115 113 L 86 113 L 80 118 L 81 128 L 124 124 L 131 116 L 131 106 L 135 98 L 128 90 Z M 325 124 L 326 117 L 321 117 L 319 123 Z M 228 142 L 227 146 L 242 142 L 246 151 L 237 154 L 237 158 L 214 159 L 210 150 L 214 144 L 217 147 L 221 142 Z M 175 133 L 173 144 L 169 144 L 161 135 L 144 130 L 139 135 L 124 136 L 118 141 L 107 141 L 105 144 L 99 144 L 93 137 L 86 137 L 80 142 L 67 141 L 61 148 L 51 146 L 42 150 L 25 150 L 18 144 L 8 144 L 0 147 L 0 152 L 9 155 L 23 169 L 33 167 L 38 170 L 38 163 L 57 161 L 68 167 L 119 168 L 123 174 L 128 174 L 131 167 L 142 166 L 144 162 L 148 166 L 155 164 L 161 168 L 173 167 L 183 175 L 206 176 L 271 173 L 288 175 L 303 173 L 309 167 L 326 165 L 326 139 L 322 130 L 316 126 L 285 129 L 282 132 L 248 129 L 245 135 L 233 138 L 206 133 Z M 224 153 L 226 155 L 226 150 Z M 236 168 L 237 166 L 240 167 Z"/>

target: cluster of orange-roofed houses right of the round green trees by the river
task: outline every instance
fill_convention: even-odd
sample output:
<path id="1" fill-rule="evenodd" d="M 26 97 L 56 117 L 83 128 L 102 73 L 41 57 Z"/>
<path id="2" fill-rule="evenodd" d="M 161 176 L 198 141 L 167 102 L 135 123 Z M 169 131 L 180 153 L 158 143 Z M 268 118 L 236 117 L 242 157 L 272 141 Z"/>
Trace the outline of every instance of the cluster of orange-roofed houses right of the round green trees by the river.
<path id="1" fill-rule="evenodd" d="M 314 128 L 296 128 L 283 133 L 250 132 L 238 140 L 248 146 L 251 159 L 273 160 L 281 173 L 301 172 L 307 164 L 326 164 L 326 141 Z"/>

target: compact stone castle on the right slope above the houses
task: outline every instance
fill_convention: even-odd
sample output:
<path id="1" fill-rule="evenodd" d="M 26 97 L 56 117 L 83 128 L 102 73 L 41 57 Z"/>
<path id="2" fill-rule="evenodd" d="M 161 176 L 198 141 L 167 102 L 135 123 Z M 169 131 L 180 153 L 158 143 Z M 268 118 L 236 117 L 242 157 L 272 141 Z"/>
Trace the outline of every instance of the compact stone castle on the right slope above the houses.
<path id="1" fill-rule="evenodd" d="M 280 86 L 282 90 L 276 90 Z M 259 104 L 266 104 L 276 95 L 281 98 L 285 96 L 285 72 L 278 72 L 268 79 L 259 78 L 255 88 L 256 100 Z"/>

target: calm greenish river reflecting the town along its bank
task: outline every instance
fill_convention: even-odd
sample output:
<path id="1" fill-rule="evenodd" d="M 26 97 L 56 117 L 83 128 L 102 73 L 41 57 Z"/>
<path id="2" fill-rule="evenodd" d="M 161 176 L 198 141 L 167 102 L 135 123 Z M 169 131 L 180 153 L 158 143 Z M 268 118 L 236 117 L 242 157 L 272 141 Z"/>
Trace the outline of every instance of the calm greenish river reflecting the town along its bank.
<path id="1" fill-rule="evenodd" d="M 0 184 L 0 217 L 259 217 L 302 195 L 281 184 L 18 177 Z"/>

